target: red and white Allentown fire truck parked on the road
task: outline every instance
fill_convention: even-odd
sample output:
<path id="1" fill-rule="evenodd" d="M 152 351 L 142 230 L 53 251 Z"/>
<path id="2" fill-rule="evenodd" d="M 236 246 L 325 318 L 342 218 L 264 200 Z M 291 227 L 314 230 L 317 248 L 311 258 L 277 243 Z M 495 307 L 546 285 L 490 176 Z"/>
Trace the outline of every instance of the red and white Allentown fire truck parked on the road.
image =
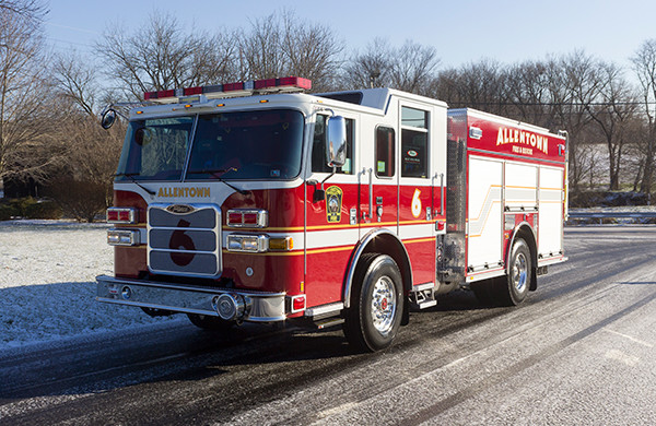
<path id="1" fill-rule="evenodd" d="M 442 294 L 518 305 L 566 260 L 566 134 L 397 90 L 311 86 L 145 93 L 96 299 L 203 329 L 341 324 L 379 351 Z"/>

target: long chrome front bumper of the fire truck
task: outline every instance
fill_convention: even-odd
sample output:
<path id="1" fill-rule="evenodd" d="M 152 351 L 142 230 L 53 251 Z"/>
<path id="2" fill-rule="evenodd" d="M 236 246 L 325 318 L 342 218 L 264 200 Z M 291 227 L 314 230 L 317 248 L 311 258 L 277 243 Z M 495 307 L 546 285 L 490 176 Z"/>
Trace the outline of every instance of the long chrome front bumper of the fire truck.
<path id="1" fill-rule="evenodd" d="M 218 317 L 218 300 L 222 295 L 230 295 L 239 297 L 245 303 L 246 308 L 241 320 L 270 322 L 282 321 L 286 317 L 284 293 L 200 287 L 186 284 L 117 279 L 108 275 L 97 276 L 96 281 L 96 300 L 108 304 Z"/>

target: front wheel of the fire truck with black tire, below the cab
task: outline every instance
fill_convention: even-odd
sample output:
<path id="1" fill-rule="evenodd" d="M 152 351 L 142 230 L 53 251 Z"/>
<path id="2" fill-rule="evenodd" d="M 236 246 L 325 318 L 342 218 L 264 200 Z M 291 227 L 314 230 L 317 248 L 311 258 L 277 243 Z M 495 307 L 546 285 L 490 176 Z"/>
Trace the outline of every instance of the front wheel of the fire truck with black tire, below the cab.
<path id="1" fill-rule="evenodd" d="M 403 286 L 398 265 L 387 255 L 362 256 L 344 318 L 344 335 L 359 351 L 389 347 L 403 313 Z"/>

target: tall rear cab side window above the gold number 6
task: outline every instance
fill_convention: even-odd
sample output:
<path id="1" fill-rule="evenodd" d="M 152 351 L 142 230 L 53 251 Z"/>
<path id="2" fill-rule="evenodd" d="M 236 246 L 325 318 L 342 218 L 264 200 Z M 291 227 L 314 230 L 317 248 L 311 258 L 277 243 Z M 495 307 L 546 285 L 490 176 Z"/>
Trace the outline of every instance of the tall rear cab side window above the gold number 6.
<path id="1" fill-rule="evenodd" d="M 401 176 L 429 177 L 429 113 L 401 107 Z"/>

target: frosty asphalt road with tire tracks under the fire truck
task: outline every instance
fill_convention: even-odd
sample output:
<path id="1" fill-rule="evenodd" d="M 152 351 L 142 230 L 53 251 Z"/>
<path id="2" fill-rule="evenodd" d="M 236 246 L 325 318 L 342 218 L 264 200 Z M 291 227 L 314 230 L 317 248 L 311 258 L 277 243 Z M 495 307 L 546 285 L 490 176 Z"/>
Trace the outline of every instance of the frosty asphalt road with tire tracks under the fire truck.
<path id="1" fill-rule="evenodd" d="M 656 424 L 656 227 L 565 239 L 520 307 L 453 293 L 384 353 L 179 321 L 1 357 L 0 424 Z"/>

